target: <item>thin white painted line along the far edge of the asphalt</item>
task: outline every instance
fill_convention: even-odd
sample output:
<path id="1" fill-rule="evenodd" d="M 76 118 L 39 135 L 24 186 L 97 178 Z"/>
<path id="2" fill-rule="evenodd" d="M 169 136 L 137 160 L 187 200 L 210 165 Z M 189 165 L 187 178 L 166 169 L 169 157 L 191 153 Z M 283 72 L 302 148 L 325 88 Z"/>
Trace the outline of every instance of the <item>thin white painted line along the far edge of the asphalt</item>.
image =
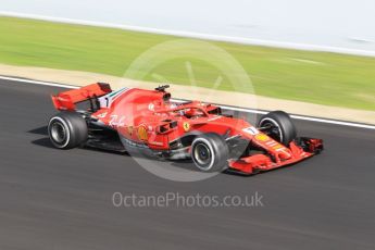
<path id="1" fill-rule="evenodd" d="M 24 79 L 24 78 L 11 77 L 11 76 L 0 76 L 0 79 L 11 80 L 11 82 L 20 82 L 20 83 L 26 83 L 26 84 L 52 86 L 52 87 L 59 87 L 59 88 L 75 88 L 75 89 L 79 88 L 79 87 L 74 86 L 74 85 L 55 84 L 55 83 Z M 175 100 L 175 101 L 180 101 L 180 100 Z M 265 114 L 265 113 L 267 113 L 267 111 L 252 110 L 252 109 L 246 109 L 246 108 L 237 108 L 237 107 L 229 107 L 229 105 L 220 105 L 220 107 L 223 109 L 226 109 L 226 110 L 240 111 L 240 112 L 247 112 L 247 113 L 253 113 L 253 114 Z M 375 125 L 368 125 L 368 124 L 352 123 L 352 122 L 345 122 L 345 121 L 335 121 L 335 120 L 318 118 L 318 117 L 310 117 L 310 116 L 296 115 L 296 114 L 292 114 L 290 116 L 292 118 L 296 118 L 296 120 L 310 121 L 310 122 L 316 122 L 316 123 L 327 123 L 327 124 L 335 124 L 335 125 L 342 125 L 342 126 L 350 126 L 350 127 L 375 129 Z"/>

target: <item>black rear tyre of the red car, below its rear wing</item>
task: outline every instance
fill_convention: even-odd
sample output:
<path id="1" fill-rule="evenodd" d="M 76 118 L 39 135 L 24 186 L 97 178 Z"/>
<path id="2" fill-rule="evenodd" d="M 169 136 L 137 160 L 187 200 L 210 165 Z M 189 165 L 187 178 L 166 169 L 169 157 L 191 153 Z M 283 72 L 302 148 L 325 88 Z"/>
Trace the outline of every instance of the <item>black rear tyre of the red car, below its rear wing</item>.
<path id="1" fill-rule="evenodd" d="M 75 112 L 61 112 L 50 118 L 48 135 L 58 149 L 72 149 L 87 140 L 86 121 Z"/>

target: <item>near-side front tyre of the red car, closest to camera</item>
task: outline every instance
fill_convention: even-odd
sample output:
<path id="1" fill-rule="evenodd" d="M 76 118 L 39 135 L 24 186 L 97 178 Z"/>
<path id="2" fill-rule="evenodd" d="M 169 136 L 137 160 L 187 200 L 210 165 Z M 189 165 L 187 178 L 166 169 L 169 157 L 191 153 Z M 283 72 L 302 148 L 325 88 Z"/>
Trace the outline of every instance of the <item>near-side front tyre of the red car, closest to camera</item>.
<path id="1" fill-rule="evenodd" d="M 227 166 L 229 149 L 217 134 L 197 136 L 191 145 L 191 159 L 202 172 L 220 172 Z"/>

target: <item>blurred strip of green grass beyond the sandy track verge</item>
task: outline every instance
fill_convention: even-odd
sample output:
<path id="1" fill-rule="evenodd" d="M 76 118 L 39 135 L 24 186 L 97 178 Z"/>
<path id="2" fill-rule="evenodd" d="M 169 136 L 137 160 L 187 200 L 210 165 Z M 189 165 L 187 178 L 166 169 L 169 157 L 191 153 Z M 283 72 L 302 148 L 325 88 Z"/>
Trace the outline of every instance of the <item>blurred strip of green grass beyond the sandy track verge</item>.
<path id="1" fill-rule="evenodd" d="M 0 63 L 123 76 L 139 54 L 173 39 L 176 37 L 0 16 Z M 211 43 L 243 66 L 257 95 L 375 110 L 374 58 Z M 175 84 L 190 85 L 186 61 L 192 62 L 198 86 L 213 85 L 217 68 L 189 58 L 165 62 L 153 73 Z M 152 74 L 146 79 L 155 80 Z M 234 90 L 226 78 L 220 88 Z M 246 87 L 236 90 L 249 91 Z"/>

